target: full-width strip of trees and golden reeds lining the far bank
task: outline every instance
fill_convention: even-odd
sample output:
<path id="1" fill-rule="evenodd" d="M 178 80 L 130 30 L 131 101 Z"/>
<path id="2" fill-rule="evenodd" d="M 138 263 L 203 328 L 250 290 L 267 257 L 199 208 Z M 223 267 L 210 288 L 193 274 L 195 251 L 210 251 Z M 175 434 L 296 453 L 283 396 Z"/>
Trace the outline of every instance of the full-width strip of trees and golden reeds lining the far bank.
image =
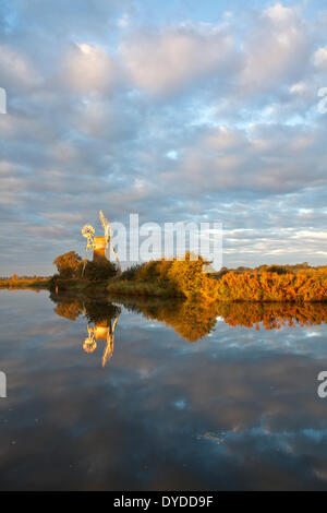
<path id="1" fill-rule="evenodd" d="M 58 256 L 58 273 L 49 278 L 3 278 L 2 288 L 50 288 L 85 294 L 180 297 L 211 302 L 320 302 L 327 300 L 327 266 L 262 265 L 256 269 L 223 267 L 206 273 L 208 262 L 186 253 L 183 259 L 152 260 L 118 273 L 109 261 L 89 262 L 74 251 Z"/>

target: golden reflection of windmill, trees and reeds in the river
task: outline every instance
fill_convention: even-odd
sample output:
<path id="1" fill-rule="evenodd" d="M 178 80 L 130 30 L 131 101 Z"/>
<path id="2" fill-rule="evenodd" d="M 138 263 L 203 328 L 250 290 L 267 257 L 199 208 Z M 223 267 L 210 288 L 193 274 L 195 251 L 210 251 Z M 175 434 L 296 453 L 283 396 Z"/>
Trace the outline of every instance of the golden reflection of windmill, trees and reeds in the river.
<path id="1" fill-rule="evenodd" d="M 93 353 L 98 341 L 106 341 L 102 366 L 112 357 L 114 329 L 121 312 L 119 306 L 109 299 L 90 300 L 51 296 L 57 303 L 55 312 L 74 321 L 80 314 L 87 320 L 87 337 L 83 348 Z M 217 319 L 230 326 L 279 330 L 282 326 L 295 327 L 327 322 L 326 303 L 249 303 L 219 302 L 205 303 L 191 300 L 159 298 L 114 298 L 128 310 L 143 314 L 147 319 L 164 322 L 189 342 L 201 341 L 215 329 Z"/>

